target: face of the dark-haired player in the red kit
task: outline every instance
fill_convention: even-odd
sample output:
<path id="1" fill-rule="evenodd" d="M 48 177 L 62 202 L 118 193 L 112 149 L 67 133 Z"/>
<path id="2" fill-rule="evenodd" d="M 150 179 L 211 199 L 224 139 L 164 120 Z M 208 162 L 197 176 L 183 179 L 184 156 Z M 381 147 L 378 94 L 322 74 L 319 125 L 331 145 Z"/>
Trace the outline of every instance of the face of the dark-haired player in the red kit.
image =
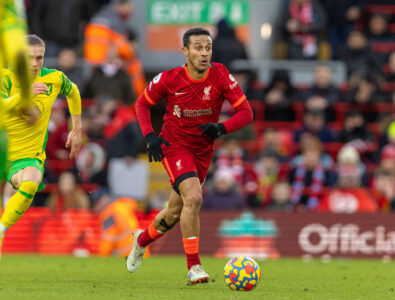
<path id="1" fill-rule="evenodd" d="M 187 63 L 197 72 L 204 73 L 208 69 L 213 54 L 211 37 L 192 35 L 189 41 L 189 46 L 183 48 Z"/>

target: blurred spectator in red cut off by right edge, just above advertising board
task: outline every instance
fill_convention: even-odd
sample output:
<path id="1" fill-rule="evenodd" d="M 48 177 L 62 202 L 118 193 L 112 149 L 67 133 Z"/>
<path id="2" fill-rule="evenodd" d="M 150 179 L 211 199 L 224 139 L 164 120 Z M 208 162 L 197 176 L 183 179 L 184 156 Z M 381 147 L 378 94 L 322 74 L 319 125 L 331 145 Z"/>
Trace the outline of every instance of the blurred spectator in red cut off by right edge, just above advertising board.
<path id="1" fill-rule="evenodd" d="M 373 196 L 383 211 L 395 210 L 395 177 L 378 168 L 374 173 Z"/>

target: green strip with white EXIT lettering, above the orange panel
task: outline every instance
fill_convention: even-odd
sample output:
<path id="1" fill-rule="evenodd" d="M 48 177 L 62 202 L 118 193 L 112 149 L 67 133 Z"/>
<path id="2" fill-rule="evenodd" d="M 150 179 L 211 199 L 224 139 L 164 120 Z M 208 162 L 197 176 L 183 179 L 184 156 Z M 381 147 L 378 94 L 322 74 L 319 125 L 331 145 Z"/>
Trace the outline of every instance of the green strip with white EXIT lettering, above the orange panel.
<path id="1" fill-rule="evenodd" d="M 214 24 L 227 18 L 233 25 L 247 24 L 246 0 L 149 0 L 150 24 Z"/>

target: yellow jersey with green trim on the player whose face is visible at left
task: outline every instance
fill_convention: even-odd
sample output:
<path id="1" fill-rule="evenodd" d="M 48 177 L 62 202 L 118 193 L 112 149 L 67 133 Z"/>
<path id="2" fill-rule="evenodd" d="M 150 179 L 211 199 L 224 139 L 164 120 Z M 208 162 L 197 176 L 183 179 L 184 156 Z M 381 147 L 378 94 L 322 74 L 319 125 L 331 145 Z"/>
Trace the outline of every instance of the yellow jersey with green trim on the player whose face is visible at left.
<path id="1" fill-rule="evenodd" d="M 20 94 L 20 86 L 12 70 L 3 70 L 3 80 L 0 89 L 0 101 L 10 104 Z M 42 68 L 33 82 L 45 83 L 49 89 L 46 94 L 33 97 L 33 103 L 40 109 L 41 116 L 34 124 L 28 124 L 21 114 L 6 113 L 4 125 L 8 132 L 8 160 L 16 161 L 23 158 L 38 158 L 45 160 L 45 146 L 48 139 L 48 123 L 52 105 L 61 94 L 69 98 L 78 98 L 81 103 L 78 88 L 64 74 L 55 69 Z M 74 100 L 74 99 L 73 99 Z M 15 101 L 15 100 L 14 100 Z M 73 112 L 71 112 L 73 113 Z M 77 113 L 80 113 L 80 111 Z"/>

